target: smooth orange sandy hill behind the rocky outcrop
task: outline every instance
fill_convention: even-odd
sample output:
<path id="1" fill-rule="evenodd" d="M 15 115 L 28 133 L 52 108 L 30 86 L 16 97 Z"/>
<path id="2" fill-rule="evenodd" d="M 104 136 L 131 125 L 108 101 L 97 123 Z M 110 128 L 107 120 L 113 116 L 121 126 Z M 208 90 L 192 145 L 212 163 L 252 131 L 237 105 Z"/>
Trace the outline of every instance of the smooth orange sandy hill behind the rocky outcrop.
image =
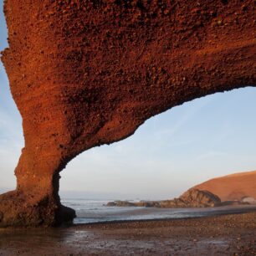
<path id="1" fill-rule="evenodd" d="M 218 195 L 222 201 L 256 198 L 256 171 L 239 172 L 203 182 L 194 188 Z"/>

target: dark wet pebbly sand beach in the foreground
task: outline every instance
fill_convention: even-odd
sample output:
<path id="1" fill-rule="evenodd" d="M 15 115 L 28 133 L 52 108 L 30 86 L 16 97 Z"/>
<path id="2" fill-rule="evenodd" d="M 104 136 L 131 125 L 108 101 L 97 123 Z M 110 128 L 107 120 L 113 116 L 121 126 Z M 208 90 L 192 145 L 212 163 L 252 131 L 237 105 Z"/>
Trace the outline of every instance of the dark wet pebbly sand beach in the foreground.
<path id="1" fill-rule="evenodd" d="M 0 229 L 0 255 L 256 255 L 256 212 Z"/>

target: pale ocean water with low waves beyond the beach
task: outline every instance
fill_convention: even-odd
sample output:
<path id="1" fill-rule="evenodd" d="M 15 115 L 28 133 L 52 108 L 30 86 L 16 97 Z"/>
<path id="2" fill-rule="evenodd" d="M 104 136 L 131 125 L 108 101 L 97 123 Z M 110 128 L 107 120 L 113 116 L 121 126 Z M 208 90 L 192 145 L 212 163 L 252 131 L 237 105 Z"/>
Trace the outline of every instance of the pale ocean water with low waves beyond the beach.
<path id="1" fill-rule="evenodd" d="M 105 223 L 113 221 L 195 218 L 233 212 L 255 211 L 253 206 L 225 206 L 207 208 L 107 207 L 111 200 L 62 199 L 62 203 L 75 210 L 75 224 Z M 135 202 L 135 201 L 131 201 Z"/>

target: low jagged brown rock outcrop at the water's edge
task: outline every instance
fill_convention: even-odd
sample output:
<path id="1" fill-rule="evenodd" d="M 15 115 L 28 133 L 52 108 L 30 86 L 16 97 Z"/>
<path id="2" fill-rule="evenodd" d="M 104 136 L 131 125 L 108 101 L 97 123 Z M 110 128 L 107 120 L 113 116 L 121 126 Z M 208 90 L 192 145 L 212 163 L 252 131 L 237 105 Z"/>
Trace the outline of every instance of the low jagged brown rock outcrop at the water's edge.
<path id="1" fill-rule="evenodd" d="M 184 192 L 181 197 L 172 200 L 163 201 L 115 201 L 108 202 L 107 206 L 115 207 L 162 207 L 162 208 L 177 208 L 177 207 L 215 207 L 220 206 L 221 200 L 218 196 L 208 191 L 202 191 L 195 188 Z"/>

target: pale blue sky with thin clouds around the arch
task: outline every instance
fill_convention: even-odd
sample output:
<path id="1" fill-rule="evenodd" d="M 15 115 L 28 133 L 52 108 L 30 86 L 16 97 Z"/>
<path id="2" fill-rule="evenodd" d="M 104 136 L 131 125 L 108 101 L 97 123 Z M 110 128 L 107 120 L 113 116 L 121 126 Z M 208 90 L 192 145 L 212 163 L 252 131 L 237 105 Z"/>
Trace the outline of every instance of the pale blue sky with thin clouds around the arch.
<path id="1" fill-rule="evenodd" d="M 253 87 L 208 95 L 146 120 L 124 141 L 85 151 L 60 173 L 61 197 L 166 199 L 212 177 L 256 170 L 255 98 Z M 0 63 L 0 192 L 15 188 L 22 148 L 22 119 Z"/>

